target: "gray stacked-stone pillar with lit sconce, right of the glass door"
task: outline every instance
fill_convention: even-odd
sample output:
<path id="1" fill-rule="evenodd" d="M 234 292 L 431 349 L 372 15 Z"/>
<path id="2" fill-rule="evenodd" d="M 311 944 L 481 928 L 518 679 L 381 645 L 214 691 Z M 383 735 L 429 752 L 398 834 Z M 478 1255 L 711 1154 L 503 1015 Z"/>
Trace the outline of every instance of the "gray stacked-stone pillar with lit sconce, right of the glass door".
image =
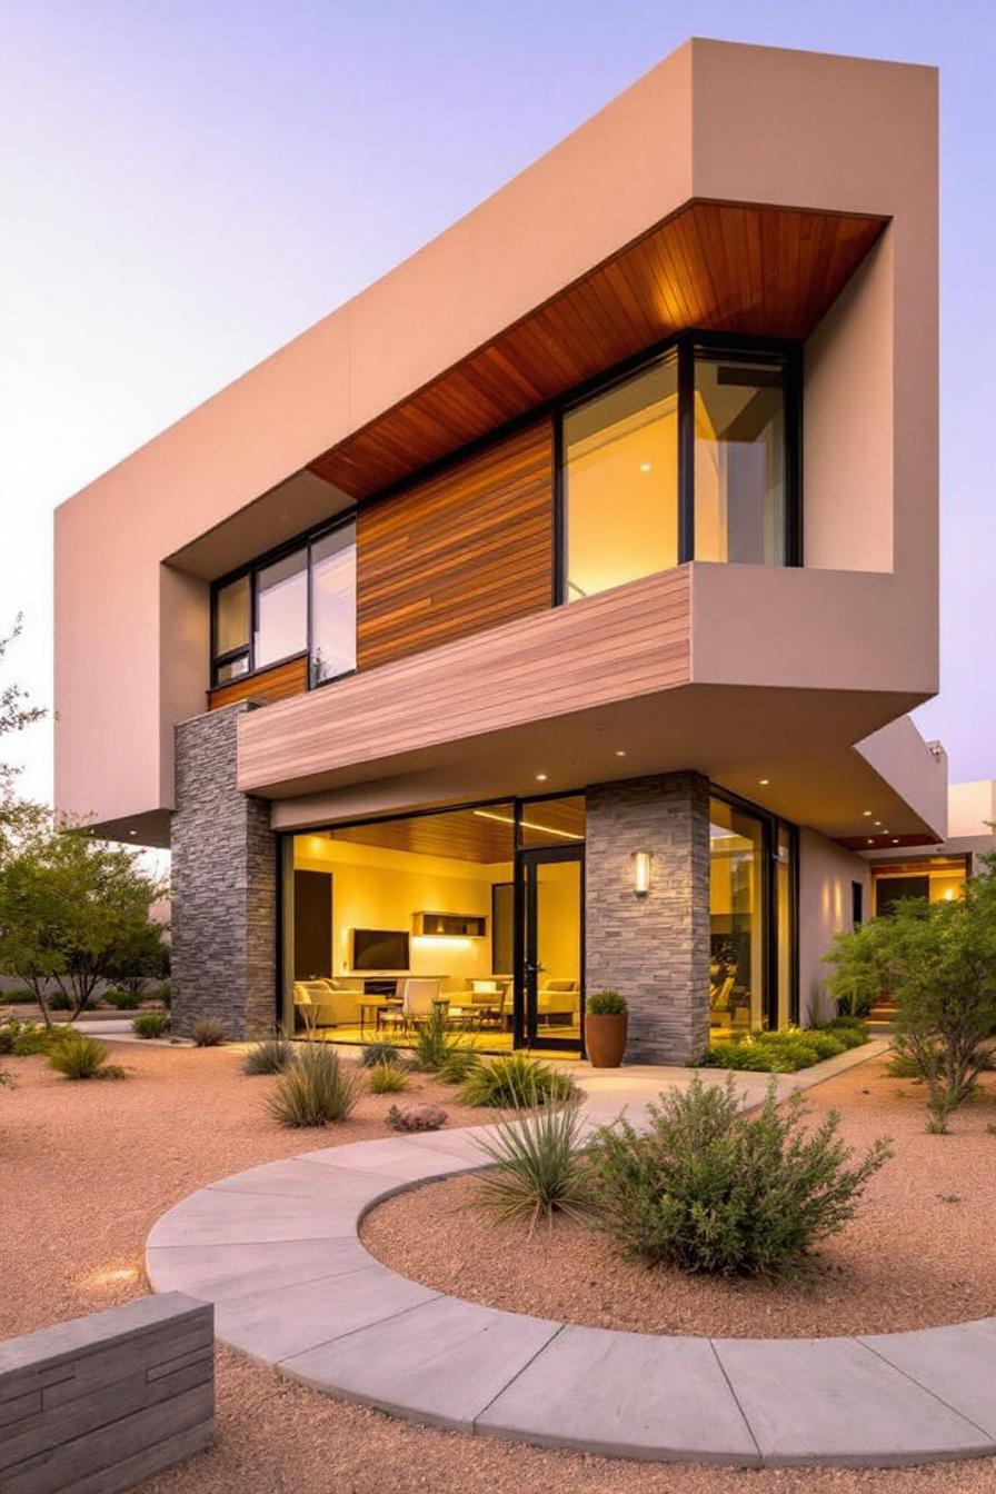
<path id="1" fill-rule="evenodd" d="M 647 898 L 635 850 L 654 853 Z M 709 1041 L 709 781 L 670 772 L 587 790 L 585 985 L 621 991 L 626 1061 L 684 1064 Z"/>

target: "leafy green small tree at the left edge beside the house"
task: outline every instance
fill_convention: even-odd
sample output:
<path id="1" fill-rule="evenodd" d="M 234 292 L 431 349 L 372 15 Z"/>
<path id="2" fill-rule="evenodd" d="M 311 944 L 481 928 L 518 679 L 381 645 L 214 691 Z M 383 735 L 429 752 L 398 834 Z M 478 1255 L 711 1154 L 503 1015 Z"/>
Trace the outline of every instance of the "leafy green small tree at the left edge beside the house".
<path id="1" fill-rule="evenodd" d="M 97 985 L 131 952 L 148 953 L 149 908 L 161 895 L 136 855 L 51 820 L 0 864 L 0 968 L 34 991 L 45 1020 L 45 983 L 55 980 L 78 1017 Z"/>

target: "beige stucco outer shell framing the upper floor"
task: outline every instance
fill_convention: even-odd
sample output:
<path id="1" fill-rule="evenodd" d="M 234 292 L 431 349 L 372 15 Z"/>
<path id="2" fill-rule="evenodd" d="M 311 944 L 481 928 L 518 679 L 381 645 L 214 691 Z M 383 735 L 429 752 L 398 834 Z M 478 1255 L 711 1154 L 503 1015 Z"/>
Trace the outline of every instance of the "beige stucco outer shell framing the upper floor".
<path id="1" fill-rule="evenodd" d="M 744 751 L 709 751 L 739 775 L 733 787 L 769 777 L 769 807 L 785 814 L 800 795 L 778 802 L 781 786 L 818 737 L 839 789 L 821 828 L 845 832 L 888 780 L 881 753 L 869 766 L 854 743 L 938 680 L 936 76 L 702 40 L 58 509 L 58 807 L 164 843 L 173 726 L 205 708 L 208 581 L 343 500 L 296 474 L 693 199 L 888 220 L 805 348 L 805 566 L 688 566 L 687 681 L 654 705 L 666 732 L 688 741 L 721 723 L 733 692 Z M 340 689 L 346 708 L 357 684 L 329 693 Z M 323 710 L 327 699 L 306 696 L 246 717 L 246 750 L 276 737 L 285 714 Z M 479 748 L 487 777 L 487 734 L 476 735 L 469 756 Z M 539 737 L 541 722 L 518 746 Z M 512 746 L 491 743 L 505 760 Z M 412 802 L 473 790 L 445 748 L 421 769 L 436 787 Z M 309 769 L 299 796 L 330 790 L 336 771 L 323 784 Z M 366 777 L 406 772 L 373 760 Z M 290 790 L 279 790 L 282 814 Z M 890 819 L 905 834 L 942 832 L 929 795 L 899 799 Z"/>

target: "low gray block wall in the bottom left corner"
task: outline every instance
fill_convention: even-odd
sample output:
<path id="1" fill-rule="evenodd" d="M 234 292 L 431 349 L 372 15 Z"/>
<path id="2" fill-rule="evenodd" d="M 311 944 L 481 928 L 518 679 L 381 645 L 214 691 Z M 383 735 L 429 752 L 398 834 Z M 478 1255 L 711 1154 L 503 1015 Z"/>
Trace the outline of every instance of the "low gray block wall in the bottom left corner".
<path id="1" fill-rule="evenodd" d="M 214 1307 L 182 1292 L 0 1343 L 3 1494 L 121 1494 L 214 1442 Z"/>

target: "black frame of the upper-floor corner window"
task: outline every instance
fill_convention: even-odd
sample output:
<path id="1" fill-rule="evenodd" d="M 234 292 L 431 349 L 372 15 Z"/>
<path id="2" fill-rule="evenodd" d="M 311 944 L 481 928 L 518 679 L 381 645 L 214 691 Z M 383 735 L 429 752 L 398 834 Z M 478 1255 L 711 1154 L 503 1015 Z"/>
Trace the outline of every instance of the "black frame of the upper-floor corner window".
<path id="1" fill-rule="evenodd" d="M 567 512 L 564 417 L 617 384 L 676 356 L 678 363 L 678 565 L 694 560 L 694 365 L 696 353 L 782 371 L 785 420 L 784 562 L 803 565 L 802 535 L 802 342 L 690 329 L 573 390 L 554 408 L 554 607 L 567 602 Z M 742 562 L 741 562 L 742 563 Z"/>

